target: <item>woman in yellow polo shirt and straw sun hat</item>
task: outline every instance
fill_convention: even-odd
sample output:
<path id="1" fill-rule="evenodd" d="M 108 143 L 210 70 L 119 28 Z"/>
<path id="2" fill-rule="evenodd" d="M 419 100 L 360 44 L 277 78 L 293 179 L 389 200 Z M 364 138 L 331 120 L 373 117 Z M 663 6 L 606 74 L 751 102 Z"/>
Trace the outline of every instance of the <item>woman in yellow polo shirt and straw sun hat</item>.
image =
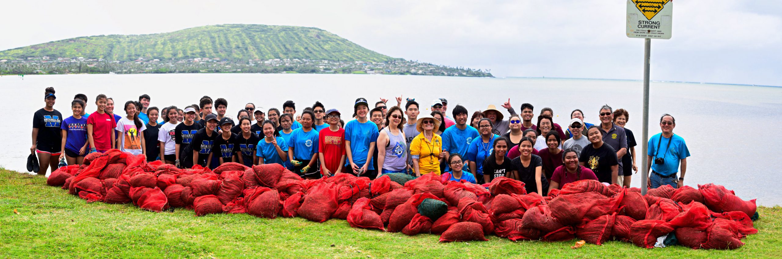
<path id="1" fill-rule="evenodd" d="M 410 144 L 416 177 L 428 173 L 440 175 L 439 164 L 445 158 L 446 152 L 443 151 L 443 138 L 434 133 L 435 129 L 439 129 L 439 124 L 439 120 L 429 115 L 429 112 L 421 112 L 418 116 L 416 130 L 419 134 Z"/>

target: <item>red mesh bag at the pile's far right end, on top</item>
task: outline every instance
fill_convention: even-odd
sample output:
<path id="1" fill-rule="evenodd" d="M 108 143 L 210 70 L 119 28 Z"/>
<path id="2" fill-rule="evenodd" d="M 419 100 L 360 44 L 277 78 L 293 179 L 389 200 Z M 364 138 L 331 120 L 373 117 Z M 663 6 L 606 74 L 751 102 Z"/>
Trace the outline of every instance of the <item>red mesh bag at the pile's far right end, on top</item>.
<path id="1" fill-rule="evenodd" d="M 703 194 L 706 206 L 714 212 L 742 211 L 752 217 L 757 210 L 755 200 L 741 200 L 732 190 L 725 189 L 725 186 L 708 183 L 698 185 L 698 190 Z"/>

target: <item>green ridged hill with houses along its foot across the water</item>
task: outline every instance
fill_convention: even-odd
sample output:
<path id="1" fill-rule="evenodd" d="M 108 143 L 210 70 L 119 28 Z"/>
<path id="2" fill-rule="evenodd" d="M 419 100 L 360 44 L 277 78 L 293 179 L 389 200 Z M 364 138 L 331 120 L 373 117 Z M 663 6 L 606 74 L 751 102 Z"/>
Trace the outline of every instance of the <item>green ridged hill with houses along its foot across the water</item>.
<path id="1" fill-rule="evenodd" d="M 0 74 L 375 73 L 492 76 L 396 59 L 314 27 L 223 24 L 74 37 L 0 51 Z"/>

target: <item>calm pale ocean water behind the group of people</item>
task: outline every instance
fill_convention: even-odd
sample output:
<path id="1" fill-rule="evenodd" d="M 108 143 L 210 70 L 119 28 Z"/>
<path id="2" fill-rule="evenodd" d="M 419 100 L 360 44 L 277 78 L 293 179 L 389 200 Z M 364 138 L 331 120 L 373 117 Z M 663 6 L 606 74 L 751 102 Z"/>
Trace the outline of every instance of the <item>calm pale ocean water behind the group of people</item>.
<path id="1" fill-rule="evenodd" d="M 642 141 L 643 86 L 633 80 L 318 74 L 46 75 L 24 76 L 23 80 L 0 76 L 0 96 L 6 98 L 8 108 L 0 118 L 12 122 L 2 131 L 0 165 L 6 169 L 26 171 L 30 118 L 44 106 L 45 87 L 55 87 L 59 97 L 55 108 L 66 117 L 71 115 L 71 97 L 77 93 L 88 95 L 88 112 L 95 111 L 97 94 L 106 94 L 118 104 L 149 94 L 151 106 L 160 108 L 196 104 L 209 95 L 228 99 L 228 114 L 234 116 L 248 102 L 268 109 L 282 108 L 285 100 L 293 100 L 300 112 L 321 101 L 326 108 L 350 111 L 356 98 L 373 102 L 401 94 L 422 105 L 447 98 L 450 107 L 461 104 L 472 113 L 490 104 L 499 108 L 510 98 L 517 110 L 524 102 L 535 105 L 535 112 L 543 107 L 554 109 L 554 122 L 561 125 L 567 124 L 575 108 L 584 111 L 587 122 L 596 123 L 601 105 L 608 104 L 630 112 L 627 128 Z M 395 103 L 389 101 L 389 105 Z M 782 204 L 782 195 L 776 191 L 780 189 L 777 183 L 782 183 L 782 172 L 776 167 L 780 161 L 776 153 L 782 151 L 782 137 L 777 133 L 782 125 L 782 87 L 652 82 L 650 103 L 649 135 L 660 132 L 659 115 L 670 113 L 676 117 L 674 133 L 687 141 L 692 156 L 685 184 L 717 183 L 744 199 L 758 199 L 758 204 Z M 124 115 L 120 109 L 117 114 Z M 18 123 L 12 121 L 16 116 L 22 118 Z M 639 176 L 633 176 L 633 186 L 640 186 Z"/>

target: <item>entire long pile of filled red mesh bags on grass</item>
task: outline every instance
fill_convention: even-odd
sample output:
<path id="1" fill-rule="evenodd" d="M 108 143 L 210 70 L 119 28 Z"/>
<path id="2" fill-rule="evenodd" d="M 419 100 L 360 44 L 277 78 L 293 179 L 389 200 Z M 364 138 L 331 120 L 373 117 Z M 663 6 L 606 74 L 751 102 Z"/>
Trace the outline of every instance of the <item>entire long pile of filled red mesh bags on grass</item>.
<path id="1" fill-rule="evenodd" d="M 735 249 L 758 232 L 751 219 L 755 200 L 741 200 L 715 184 L 662 186 L 643 196 L 638 188 L 581 180 L 541 197 L 505 177 L 486 187 L 434 175 L 404 185 L 389 176 L 370 180 L 344 173 L 302 179 L 278 164 L 178 169 L 118 150 L 89 154 L 84 162 L 57 169 L 47 184 L 88 202 L 132 203 L 148 211 L 185 208 L 196 216 L 246 213 L 313 222 L 339 218 L 353 228 L 432 233 L 441 242 L 494 234 L 514 241 L 578 238 L 601 245 L 618 240 L 653 248 L 673 233 L 692 249 Z"/>

